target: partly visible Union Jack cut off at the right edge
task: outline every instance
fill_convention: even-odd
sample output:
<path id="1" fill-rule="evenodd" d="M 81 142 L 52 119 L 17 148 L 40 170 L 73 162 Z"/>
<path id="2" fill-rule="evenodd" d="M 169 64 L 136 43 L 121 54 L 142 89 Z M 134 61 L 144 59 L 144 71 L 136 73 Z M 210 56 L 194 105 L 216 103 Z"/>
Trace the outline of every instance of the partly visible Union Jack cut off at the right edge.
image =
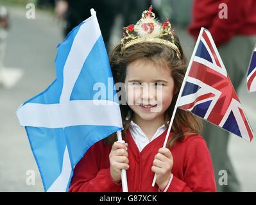
<path id="1" fill-rule="evenodd" d="M 250 60 L 250 64 L 248 67 L 247 72 L 247 88 L 249 92 L 255 92 L 256 91 L 256 45 L 253 49 L 252 58 Z"/>

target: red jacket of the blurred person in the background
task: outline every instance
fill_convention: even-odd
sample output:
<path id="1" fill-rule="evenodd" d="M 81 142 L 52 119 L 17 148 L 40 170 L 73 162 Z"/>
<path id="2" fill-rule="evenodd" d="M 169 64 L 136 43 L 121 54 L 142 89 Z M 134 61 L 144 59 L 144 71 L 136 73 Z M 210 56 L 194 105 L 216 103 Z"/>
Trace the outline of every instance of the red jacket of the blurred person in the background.
<path id="1" fill-rule="evenodd" d="M 219 8 L 221 3 L 228 8 L 227 19 L 219 18 L 219 12 L 223 10 L 223 7 Z M 256 1 L 194 0 L 189 33 L 197 39 L 201 27 L 209 29 L 217 46 L 235 35 L 256 35 Z"/>

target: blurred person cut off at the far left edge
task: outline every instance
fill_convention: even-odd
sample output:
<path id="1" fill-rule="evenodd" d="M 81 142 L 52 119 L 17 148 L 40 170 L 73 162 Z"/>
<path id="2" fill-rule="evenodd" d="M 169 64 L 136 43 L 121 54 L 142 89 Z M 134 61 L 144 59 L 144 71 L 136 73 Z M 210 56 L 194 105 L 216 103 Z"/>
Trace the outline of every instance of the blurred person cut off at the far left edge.
<path id="1" fill-rule="evenodd" d="M 5 6 L 0 6 L 0 85 L 4 84 L 4 54 L 6 51 L 6 37 L 9 26 L 8 10 Z"/>

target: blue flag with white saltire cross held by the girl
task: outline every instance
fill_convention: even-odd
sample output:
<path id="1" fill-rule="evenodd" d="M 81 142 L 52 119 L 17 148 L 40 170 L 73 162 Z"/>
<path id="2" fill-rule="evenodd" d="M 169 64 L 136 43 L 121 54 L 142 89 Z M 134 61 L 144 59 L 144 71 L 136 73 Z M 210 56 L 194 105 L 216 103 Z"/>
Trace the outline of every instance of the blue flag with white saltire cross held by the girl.
<path id="1" fill-rule="evenodd" d="M 58 45 L 55 68 L 55 81 L 24 102 L 17 117 L 26 129 L 44 190 L 66 192 L 76 163 L 90 146 L 123 129 L 96 15 Z M 106 94 L 98 95 L 103 87 Z"/>

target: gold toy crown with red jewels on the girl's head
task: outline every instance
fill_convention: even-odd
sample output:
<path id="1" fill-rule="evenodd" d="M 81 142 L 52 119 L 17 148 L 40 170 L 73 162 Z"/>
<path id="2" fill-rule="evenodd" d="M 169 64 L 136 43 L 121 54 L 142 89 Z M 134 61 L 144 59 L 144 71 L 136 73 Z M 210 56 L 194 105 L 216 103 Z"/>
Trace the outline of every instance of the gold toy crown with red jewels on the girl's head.
<path id="1" fill-rule="evenodd" d="M 121 39 L 121 52 L 132 45 L 149 42 L 171 47 L 178 58 L 181 59 L 180 50 L 175 45 L 174 30 L 171 29 L 169 19 L 160 24 L 155 19 L 155 13 L 152 12 L 152 9 L 153 7 L 150 6 L 148 10 L 145 10 L 142 13 L 142 18 L 135 25 L 130 24 L 123 28 L 125 33 L 123 33 L 123 38 Z M 164 36 L 171 37 L 171 41 L 161 38 Z"/>

